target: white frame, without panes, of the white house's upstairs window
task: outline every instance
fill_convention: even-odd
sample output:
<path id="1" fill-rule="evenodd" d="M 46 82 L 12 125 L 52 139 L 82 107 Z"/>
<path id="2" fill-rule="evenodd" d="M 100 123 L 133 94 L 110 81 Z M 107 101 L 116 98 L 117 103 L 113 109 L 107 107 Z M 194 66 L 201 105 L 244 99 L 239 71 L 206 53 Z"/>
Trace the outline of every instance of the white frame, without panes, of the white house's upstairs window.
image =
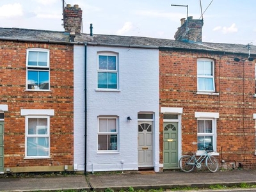
<path id="1" fill-rule="evenodd" d="M 116 57 L 116 69 L 115 70 L 105 70 L 99 69 L 99 56 L 115 56 Z M 102 73 L 115 73 L 116 74 L 116 88 L 99 88 L 99 72 Z M 98 52 L 97 53 L 97 89 L 96 90 L 105 90 L 105 91 L 116 91 L 119 90 L 119 77 L 118 77 L 118 53 L 117 52 Z"/>

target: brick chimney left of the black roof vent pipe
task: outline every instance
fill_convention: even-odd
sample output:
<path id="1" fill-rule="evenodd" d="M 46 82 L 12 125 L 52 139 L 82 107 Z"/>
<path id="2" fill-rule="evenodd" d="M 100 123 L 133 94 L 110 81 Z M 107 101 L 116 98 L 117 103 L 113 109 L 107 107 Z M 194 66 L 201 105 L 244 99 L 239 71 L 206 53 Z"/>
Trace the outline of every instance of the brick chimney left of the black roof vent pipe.
<path id="1" fill-rule="evenodd" d="M 70 33 L 72 36 L 81 33 L 82 13 L 83 11 L 79 8 L 78 4 L 74 6 L 67 4 L 63 12 L 65 32 Z"/>

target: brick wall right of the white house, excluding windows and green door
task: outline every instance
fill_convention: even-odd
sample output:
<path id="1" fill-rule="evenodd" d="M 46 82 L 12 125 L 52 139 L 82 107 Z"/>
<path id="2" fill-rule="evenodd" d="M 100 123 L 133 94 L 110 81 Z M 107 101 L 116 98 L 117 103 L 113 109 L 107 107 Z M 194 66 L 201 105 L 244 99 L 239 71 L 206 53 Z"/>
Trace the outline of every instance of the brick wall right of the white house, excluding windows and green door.
<path id="1" fill-rule="evenodd" d="M 198 58 L 214 61 L 215 87 L 219 95 L 196 94 Z M 245 61 L 243 65 L 242 61 L 233 59 L 234 55 L 160 51 L 160 107 L 183 108 L 182 154 L 197 150 L 195 112 L 214 112 L 220 115 L 217 119 L 220 163 L 223 159 L 226 163 L 242 163 L 246 168 L 256 168 L 254 62 Z M 159 129 L 160 163 L 163 163 L 163 114 L 160 115 Z"/>

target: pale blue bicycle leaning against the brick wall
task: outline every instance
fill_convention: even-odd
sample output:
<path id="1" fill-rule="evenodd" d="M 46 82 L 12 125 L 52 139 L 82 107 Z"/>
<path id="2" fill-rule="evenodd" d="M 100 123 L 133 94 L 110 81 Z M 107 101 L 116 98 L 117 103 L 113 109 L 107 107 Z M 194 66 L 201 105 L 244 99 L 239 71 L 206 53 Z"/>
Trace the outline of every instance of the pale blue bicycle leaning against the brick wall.
<path id="1" fill-rule="evenodd" d="M 205 153 L 202 154 L 202 156 L 200 156 L 198 159 L 196 159 L 195 153 L 193 153 L 193 156 L 184 155 L 180 157 L 180 170 L 182 170 L 183 172 L 191 172 L 195 168 L 195 166 L 196 168 L 201 168 L 201 163 L 205 160 L 205 165 L 207 166 L 208 170 L 210 172 L 216 172 L 219 166 L 218 161 L 214 156 L 211 156 L 211 154 L 209 154 L 208 152 L 207 150 L 205 150 Z"/>

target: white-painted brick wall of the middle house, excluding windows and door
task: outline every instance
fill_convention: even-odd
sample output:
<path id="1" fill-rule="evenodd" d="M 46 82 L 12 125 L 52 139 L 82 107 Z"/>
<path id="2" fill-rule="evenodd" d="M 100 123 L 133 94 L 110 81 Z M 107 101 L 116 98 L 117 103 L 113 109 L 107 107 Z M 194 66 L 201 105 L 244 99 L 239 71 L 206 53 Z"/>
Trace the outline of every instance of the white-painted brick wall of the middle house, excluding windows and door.
<path id="1" fill-rule="evenodd" d="M 83 79 L 84 47 L 74 51 L 74 163 L 82 164 L 84 155 L 84 93 L 79 89 Z M 97 89 L 97 52 L 118 52 L 120 92 L 100 92 Z M 138 170 L 138 112 L 154 113 L 154 168 L 159 171 L 159 51 L 124 47 L 87 47 L 87 166 L 88 172 Z M 83 87 L 83 86 L 82 86 Z M 81 99 L 83 97 L 83 99 Z M 84 110 L 84 109 L 83 109 Z M 83 113 L 83 114 L 82 114 Z M 119 151 L 113 154 L 97 152 L 97 116 L 119 117 Z M 132 120 L 127 121 L 127 116 Z M 121 161 L 124 164 L 121 164 Z M 82 167 L 82 166 L 81 166 Z"/>

